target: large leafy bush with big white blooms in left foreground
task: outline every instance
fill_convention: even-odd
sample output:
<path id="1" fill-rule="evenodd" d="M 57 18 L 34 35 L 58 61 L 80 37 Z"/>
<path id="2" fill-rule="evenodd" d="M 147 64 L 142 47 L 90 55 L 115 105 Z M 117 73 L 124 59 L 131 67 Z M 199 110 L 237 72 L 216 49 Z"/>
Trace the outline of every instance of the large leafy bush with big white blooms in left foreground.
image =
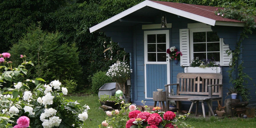
<path id="1" fill-rule="evenodd" d="M 68 90 L 59 80 L 45 84 L 41 78 L 15 79 L 26 75 L 26 64 L 33 66 L 25 57 L 21 56 L 23 63 L 17 68 L 5 65 L 10 62 L 0 63 L 0 86 L 11 83 L 10 87 L 0 88 L 0 127 L 13 127 L 20 116 L 29 117 L 31 128 L 81 127 L 90 107 L 63 97 Z M 31 82 L 36 85 L 33 90 L 28 86 Z"/>

